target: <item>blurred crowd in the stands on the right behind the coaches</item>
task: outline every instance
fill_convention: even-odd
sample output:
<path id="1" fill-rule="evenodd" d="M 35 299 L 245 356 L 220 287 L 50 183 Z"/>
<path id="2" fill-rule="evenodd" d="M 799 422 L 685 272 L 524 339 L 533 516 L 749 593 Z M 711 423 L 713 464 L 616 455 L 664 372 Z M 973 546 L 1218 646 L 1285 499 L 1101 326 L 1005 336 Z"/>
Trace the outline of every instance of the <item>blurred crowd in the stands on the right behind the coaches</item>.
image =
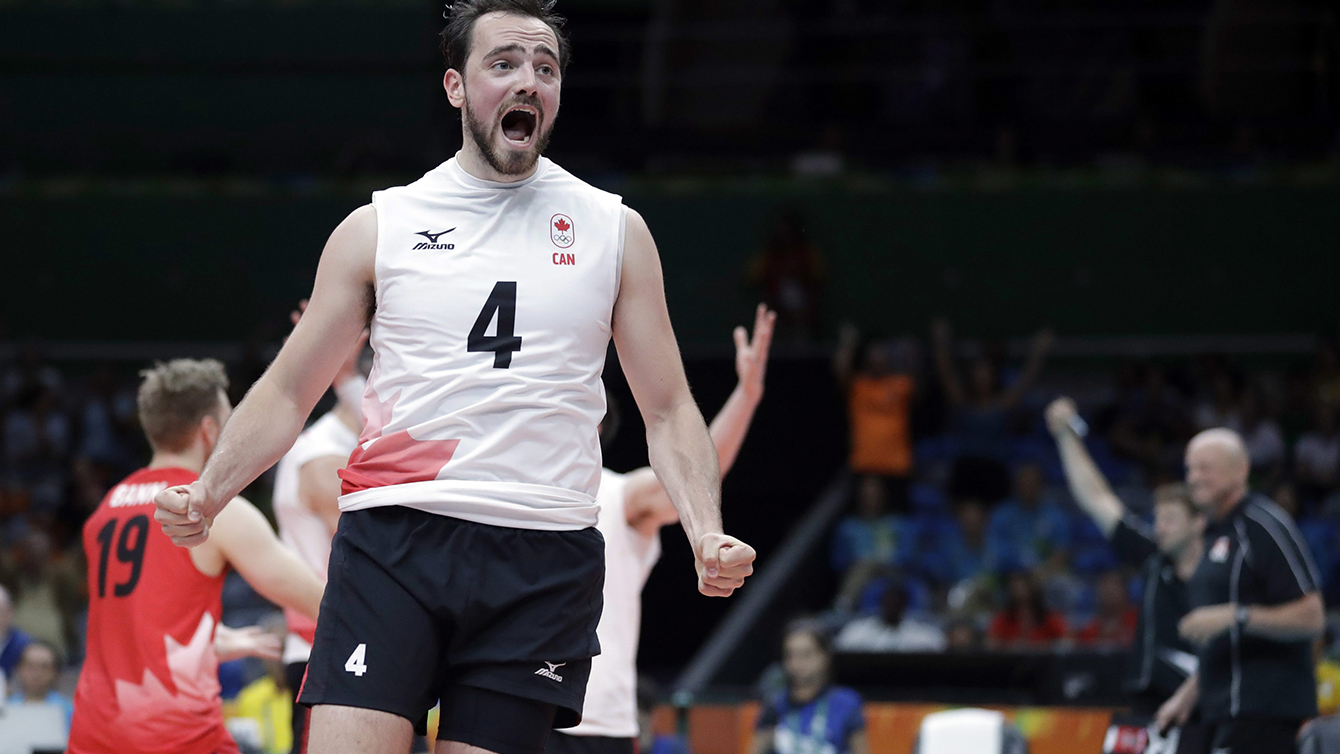
<path id="1" fill-rule="evenodd" d="M 1340 350 L 1249 371 L 1222 356 L 1122 363 L 1043 380 L 1052 333 L 1024 363 L 931 328 L 866 342 L 844 327 L 835 375 L 850 419 L 851 510 L 836 524 L 838 593 L 825 613 L 839 651 L 1122 647 L 1142 580 L 1071 500 L 1043 407 L 1079 398 L 1087 445 L 1131 510 L 1182 477 L 1186 441 L 1230 427 L 1252 483 L 1293 514 L 1340 601 Z M 923 362 L 927 362 L 923 364 Z M 962 375 L 966 375 L 966 380 Z"/>

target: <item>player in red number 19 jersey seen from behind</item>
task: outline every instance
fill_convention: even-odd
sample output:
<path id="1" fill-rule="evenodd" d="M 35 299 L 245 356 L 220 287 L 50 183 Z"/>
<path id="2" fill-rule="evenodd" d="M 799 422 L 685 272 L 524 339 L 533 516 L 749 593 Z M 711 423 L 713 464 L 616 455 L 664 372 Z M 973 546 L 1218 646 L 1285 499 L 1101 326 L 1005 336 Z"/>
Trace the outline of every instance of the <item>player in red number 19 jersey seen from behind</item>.
<path id="1" fill-rule="evenodd" d="M 232 407 L 224 366 L 212 359 L 178 359 L 143 375 L 139 422 L 153 459 L 107 493 L 83 530 L 88 652 L 68 751 L 236 753 L 224 729 L 214 643 L 224 575 L 236 568 L 264 597 L 314 619 L 323 588 L 243 498 L 192 549 L 173 545 L 153 522 L 154 496 L 200 475 Z M 248 635 L 229 637 L 245 644 Z"/>

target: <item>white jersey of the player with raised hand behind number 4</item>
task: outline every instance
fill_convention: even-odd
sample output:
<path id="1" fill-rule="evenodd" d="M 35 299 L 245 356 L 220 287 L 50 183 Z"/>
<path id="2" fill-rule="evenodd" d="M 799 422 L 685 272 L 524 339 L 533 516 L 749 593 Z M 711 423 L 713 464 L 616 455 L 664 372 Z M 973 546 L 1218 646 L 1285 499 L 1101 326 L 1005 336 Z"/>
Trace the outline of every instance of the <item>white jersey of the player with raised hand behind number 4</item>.
<path id="1" fill-rule="evenodd" d="M 661 537 L 645 537 L 624 513 L 626 474 L 600 474 L 600 534 L 604 536 L 604 609 L 596 636 L 600 654 L 591 658 L 582 725 L 568 735 L 638 735 L 638 636 L 642 631 L 642 587 L 661 558 Z"/>

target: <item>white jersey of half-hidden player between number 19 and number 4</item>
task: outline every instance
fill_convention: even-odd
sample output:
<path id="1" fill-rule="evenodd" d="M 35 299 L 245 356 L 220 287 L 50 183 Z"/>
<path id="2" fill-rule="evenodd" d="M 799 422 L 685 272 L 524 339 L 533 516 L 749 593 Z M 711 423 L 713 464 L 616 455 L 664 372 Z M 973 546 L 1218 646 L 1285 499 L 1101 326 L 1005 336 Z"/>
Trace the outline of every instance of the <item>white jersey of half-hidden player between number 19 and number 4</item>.
<path id="1" fill-rule="evenodd" d="M 303 430 L 303 434 L 293 441 L 293 447 L 275 466 L 273 505 L 279 538 L 322 581 L 326 581 L 326 567 L 331 558 L 331 530 L 326 528 L 326 521 L 303 505 L 297 496 L 300 473 L 308 461 L 326 455 L 348 458 L 356 446 L 358 435 L 332 411 Z M 311 636 L 316 623 L 293 611 L 285 611 L 284 616 L 291 628 L 284 640 L 284 663 L 307 662 L 312 651 Z"/>

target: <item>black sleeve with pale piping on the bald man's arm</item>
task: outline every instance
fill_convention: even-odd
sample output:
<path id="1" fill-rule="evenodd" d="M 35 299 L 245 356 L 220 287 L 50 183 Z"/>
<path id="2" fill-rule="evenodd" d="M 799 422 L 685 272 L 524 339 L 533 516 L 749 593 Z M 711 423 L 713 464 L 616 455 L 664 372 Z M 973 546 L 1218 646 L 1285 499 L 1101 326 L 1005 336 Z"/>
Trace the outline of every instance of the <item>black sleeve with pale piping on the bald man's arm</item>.
<path id="1" fill-rule="evenodd" d="M 1321 579 L 1293 518 L 1273 504 L 1248 505 L 1252 567 L 1265 587 L 1265 604 L 1290 603 L 1316 592 Z"/>

